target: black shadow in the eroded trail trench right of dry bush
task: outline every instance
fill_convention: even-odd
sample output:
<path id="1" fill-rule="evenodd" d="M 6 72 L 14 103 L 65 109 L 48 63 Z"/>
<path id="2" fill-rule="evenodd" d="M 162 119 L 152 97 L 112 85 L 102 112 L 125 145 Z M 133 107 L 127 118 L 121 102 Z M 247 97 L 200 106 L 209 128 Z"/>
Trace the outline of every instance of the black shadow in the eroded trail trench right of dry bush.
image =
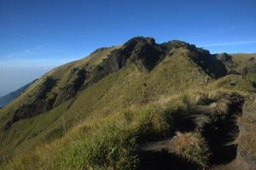
<path id="1" fill-rule="evenodd" d="M 237 144 L 234 143 L 239 135 L 237 119 L 242 114 L 243 103 L 243 99 L 236 99 L 230 105 L 228 116 L 218 118 L 218 121 L 204 128 L 202 134 L 212 152 L 211 165 L 228 164 L 236 158 Z"/>

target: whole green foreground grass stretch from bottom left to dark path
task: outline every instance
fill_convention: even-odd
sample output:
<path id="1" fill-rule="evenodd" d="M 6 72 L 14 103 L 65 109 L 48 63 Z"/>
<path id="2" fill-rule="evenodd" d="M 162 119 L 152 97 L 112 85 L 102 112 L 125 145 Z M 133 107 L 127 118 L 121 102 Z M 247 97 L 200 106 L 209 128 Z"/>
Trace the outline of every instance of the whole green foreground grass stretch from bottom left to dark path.
<path id="1" fill-rule="evenodd" d="M 135 169 L 137 144 L 166 135 L 168 116 L 152 107 L 90 120 L 52 144 L 16 157 L 3 169 Z"/>

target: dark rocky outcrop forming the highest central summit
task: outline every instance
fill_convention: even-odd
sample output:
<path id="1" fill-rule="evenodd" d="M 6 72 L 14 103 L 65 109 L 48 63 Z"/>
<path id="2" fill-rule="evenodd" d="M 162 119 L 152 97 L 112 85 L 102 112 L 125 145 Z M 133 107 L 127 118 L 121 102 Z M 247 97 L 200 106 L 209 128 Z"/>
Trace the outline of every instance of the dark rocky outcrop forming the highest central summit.
<path id="1" fill-rule="evenodd" d="M 119 71 L 128 62 L 135 63 L 140 71 L 150 71 L 159 61 L 162 52 L 160 45 L 156 44 L 153 38 L 132 38 L 121 48 L 113 50 L 108 58 L 96 67 L 89 84 L 101 80 L 109 73 Z"/>

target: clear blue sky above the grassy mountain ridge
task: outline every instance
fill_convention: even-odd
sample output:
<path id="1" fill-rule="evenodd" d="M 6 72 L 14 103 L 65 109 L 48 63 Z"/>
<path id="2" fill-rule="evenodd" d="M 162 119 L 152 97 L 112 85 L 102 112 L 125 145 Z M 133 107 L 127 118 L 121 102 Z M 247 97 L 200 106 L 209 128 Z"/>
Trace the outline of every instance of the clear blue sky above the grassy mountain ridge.
<path id="1" fill-rule="evenodd" d="M 0 96 L 136 36 L 255 53 L 255 8 L 255 0 L 0 0 Z"/>

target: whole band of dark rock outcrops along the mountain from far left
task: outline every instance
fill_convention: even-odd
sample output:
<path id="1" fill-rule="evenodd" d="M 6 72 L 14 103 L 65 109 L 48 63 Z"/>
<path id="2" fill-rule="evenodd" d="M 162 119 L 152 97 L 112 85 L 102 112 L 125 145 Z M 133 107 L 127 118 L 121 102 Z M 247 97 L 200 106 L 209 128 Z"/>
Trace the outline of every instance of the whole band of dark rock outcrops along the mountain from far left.
<path id="1" fill-rule="evenodd" d="M 102 53 L 104 50 L 108 48 L 99 48 L 93 54 Z M 191 63 L 210 77 L 222 77 L 227 73 L 224 65 L 214 55 L 207 50 L 196 48 L 195 45 L 180 41 L 157 44 L 151 37 L 134 37 L 122 47 L 113 49 L 95 67 L 88 69 L 86 63 L 78 65 L 74 62 L 66 65 L 69 67 L 67 71 L 62 72 L 60 67 L 51 75 L 44 77 L 44 80 L 38 80 L 36 90 L 30 93 L 33 99 L 10 113 L 13 116 L 4 127 L 8 128 L 20 119 L 49 111 L 129 63 L 135 64 L 139 71 L 150 72 L 161 60 L 172 57 L 177 51 L 184 51 L 184 55 Z M 63 76 L 55 77 L 57 72 Z"/>

